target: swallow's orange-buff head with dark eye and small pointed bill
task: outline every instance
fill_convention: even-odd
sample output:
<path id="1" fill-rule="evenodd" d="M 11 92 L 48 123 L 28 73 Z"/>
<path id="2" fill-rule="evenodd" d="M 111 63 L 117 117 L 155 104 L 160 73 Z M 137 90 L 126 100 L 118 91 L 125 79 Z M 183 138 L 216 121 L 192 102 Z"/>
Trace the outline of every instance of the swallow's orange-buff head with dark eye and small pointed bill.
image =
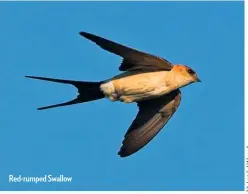
<path id="1" fill-rule="evenodd" d="M 172 71 L 179 85 L 185 86 L 194 82 L 201 82 L 196 72 L 185 65 L 174 65 Z"/>

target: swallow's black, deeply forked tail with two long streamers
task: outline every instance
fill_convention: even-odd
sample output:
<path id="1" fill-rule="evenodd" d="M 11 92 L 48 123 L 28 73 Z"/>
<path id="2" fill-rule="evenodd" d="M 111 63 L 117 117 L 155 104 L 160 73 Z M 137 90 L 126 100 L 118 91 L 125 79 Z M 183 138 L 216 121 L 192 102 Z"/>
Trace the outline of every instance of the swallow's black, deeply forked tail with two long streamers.
<path id="1" fill-rule="evenodd" d="M 55 108 L 59 106 L 67 106 L 67 105 L 88 102 L 88 101 L 104 98 L 104 94 L 100 90 L 100 85 L 102 84 L 102 82 L 72 81 L 72 80 L 62 80 L 62 79 L 53 79 L 53 78 L 36 77 L 36 76 L 25 76 L 25 77 L 32 78 L 32 79 L 51 81 L 51 82 L 57 82 L 57 83 L 63 83 L 63 84 L 70 84 L 70 85 L 75 86 L 78 89 L 79 95 L 74 100 L 60 103 L 60 104 L 51 105 L 51 106 L 41 107 L 41 108 L 38 108 L 38 110 Z"/>

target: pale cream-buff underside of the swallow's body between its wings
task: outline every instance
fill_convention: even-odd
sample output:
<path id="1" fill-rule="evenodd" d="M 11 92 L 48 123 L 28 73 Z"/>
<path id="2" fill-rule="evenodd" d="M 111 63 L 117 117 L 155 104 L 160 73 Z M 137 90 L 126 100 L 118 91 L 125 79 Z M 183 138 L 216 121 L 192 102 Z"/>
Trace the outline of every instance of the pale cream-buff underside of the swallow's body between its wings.
<path id="1" fill-rule="evenodd" d="M 171 71 L 125 72 L 100 86 L 111 101 L 138 102 L 159 97 L 180 87 Z"/>

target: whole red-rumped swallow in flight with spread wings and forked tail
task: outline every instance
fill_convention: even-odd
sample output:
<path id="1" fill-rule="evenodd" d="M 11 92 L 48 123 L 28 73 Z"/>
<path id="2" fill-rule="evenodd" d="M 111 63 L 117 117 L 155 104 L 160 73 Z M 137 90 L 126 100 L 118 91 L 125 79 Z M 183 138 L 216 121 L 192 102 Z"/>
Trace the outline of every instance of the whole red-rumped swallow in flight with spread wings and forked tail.
<path id="1" fill-rule="evenodd" d="M 148 144 L 164 127 L 181 101 L 180 88 L 200 82 L 195 71 L 182 64 L 172 64 L 164 58 L 129 48 L 87 32 L 80 35 L 102 49 L 122 57 L 121 74 L 110 79 L 90 82 L 53 79 L 37 76 L 27 78 L 70 84 L 78 96 L 68 102 L 41 107 L 38 110 L 89 102 L 102 98 L 124 103 L 135 102 L 139 111 L 127 130 L 118 154 L 126 157 Z"/>

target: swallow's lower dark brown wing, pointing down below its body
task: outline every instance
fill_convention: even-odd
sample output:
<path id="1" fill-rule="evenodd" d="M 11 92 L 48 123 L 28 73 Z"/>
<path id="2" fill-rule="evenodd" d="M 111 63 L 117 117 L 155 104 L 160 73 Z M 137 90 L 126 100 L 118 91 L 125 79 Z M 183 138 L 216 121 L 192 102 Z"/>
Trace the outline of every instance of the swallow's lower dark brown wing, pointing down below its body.
<path id="1" fill-rule="evenodd" d="M 129 156 L 149 143 L 172 117 L 180 101 L 181 92 L 175 90 L 160 98 L 139 102 L 138 115 L 129 127 L 118 154 Z"/>

